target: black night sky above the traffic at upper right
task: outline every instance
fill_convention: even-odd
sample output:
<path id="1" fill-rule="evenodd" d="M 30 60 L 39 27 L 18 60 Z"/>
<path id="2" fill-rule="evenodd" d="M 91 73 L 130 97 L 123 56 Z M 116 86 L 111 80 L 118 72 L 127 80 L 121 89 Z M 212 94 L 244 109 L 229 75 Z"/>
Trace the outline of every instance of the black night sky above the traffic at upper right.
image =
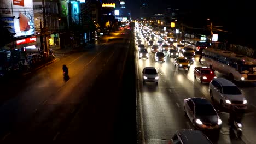
<path id="1" fill-rule="evenodd" d="M 255 40 L 255 23 L 256 13 L 253 1 L 167 1 L 167 0 L 145 0 L 149 13 L 164 13 L 165 8 L 180 9 L 190 11 L 187 15 L 187 23 L 193 27 L 201 26 L 200 23 L 210 18 L 213 26 L 218 27 L 230 33 L 228 35 L 230 43 L 246 45 L 256 49 Z M 133 19 L 139 18 L 139 0 L 125 1 L 127 8 L 131 9 Z"/>

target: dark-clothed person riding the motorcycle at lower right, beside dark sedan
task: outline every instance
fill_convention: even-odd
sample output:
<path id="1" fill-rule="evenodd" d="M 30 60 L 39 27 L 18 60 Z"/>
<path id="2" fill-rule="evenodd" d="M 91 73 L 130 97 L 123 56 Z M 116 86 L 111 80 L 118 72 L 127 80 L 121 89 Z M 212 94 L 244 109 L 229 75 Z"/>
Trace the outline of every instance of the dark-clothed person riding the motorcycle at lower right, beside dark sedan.
<path id="1" fill-rule="evenodd" d="M 231 127 L 234 127 L 235 126 L 234 122 L 241 123 L 244 114 L 245 114 L 244 109 L 240 109 L 237 106 L 232 106 L 230 109 L 229 119 L 228 119 L 229 125 Z"/>

